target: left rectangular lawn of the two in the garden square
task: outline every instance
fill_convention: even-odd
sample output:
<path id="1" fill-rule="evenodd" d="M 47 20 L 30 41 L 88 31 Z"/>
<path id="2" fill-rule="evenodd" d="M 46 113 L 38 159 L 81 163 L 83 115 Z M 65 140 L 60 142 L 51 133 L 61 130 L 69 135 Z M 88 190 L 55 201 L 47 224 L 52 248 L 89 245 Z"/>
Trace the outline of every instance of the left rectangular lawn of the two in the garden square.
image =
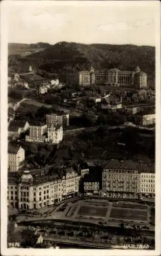
<path id="1" fill-rule="evenodd" d="M 79 208 L 78 215 L 105 217 L 107 211 L 105 207 L 83 205 Z"/>

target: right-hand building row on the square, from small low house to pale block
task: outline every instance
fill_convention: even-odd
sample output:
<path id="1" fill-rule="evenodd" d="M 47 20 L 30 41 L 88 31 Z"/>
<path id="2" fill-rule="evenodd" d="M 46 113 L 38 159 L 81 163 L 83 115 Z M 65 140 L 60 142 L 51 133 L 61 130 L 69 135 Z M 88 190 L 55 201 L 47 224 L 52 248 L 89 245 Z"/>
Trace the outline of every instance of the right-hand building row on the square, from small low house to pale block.
<path id="1" fill-rule="evenodd" d="M 101 170 L 96 167 L 97 173 L 90 170 L 87 163 L 81 164 L 80 168 L 85 195 L 111 198 L 155 197 L 155 169 L 152 164 L 112 159 Z"/>

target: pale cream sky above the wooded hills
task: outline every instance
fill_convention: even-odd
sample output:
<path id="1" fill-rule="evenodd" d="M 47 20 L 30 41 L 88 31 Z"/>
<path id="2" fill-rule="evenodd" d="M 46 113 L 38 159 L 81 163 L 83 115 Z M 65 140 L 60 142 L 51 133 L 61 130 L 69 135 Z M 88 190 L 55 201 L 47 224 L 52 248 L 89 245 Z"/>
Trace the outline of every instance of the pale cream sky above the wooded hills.
<path id="1" fill-rule="evenodd" d="M 155 45 L 157 1 L 13 2 L 9 42 Z"/>

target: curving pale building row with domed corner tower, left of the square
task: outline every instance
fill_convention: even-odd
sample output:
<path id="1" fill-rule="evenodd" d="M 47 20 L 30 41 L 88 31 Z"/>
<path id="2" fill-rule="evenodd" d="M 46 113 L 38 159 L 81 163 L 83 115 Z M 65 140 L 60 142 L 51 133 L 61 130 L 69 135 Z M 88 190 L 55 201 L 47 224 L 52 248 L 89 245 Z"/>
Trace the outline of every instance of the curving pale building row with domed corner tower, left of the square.
<path id="1" fill-rule="evenodd" d="M 29 170 L 20 178 L 8 176 L 8 206 L 18 209 L 39 209 L 78 195 L 81 176 L 73 168 L 61 173 L 37 176 Z"/>

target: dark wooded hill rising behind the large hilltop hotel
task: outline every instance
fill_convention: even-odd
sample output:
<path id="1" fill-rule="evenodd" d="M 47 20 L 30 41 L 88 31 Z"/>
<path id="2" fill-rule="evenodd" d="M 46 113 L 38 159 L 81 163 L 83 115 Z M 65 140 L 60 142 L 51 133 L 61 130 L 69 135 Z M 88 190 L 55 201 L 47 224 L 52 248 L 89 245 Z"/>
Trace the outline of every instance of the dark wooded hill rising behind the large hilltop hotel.
<path id="1" fill-rule="evenodd" d="M 19 58 L 18 61 L 28 65 L 30 63 L 46 72 L 57 73 L 61 80 L 72 84 L 76 83 L 77 72 L 91 65 L 96 70 L 113 67 L 133 70 L 139 66 L 148 74 L 148 84 L 155 84 L 155 48 L 150 46 L 59 42 L 43 51 Z"/>

